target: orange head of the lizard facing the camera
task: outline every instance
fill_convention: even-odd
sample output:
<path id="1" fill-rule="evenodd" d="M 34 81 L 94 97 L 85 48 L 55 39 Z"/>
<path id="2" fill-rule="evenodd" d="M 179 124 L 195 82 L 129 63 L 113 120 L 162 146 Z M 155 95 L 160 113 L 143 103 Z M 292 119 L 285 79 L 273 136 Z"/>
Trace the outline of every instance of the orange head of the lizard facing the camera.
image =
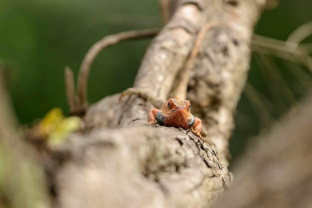
<path id="1" fill-rule="evenodd" d="M 190 116 L 191 115 L 191 104 L 189 101 L 186 100 L 178 100 L 178 99 L 173 99 L 173 98 L 169 98 L 169 100 L 167 100 L 162 108 L 161 108 L 161 112 L 162 113 L 182 113 L 185 114 L 186 116 Z"/>

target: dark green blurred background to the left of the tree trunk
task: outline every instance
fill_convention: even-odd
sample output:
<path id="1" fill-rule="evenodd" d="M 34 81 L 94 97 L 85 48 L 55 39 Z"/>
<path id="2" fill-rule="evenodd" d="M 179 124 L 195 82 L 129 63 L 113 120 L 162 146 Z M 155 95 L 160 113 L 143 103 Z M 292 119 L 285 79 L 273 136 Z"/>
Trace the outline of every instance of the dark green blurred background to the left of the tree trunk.
<path id="1" fill-rule="evenodd" d="M 136 24 L 137 18 L 142 24 Z M 20 122 L 32 122 L 55 106 L 67 112 L 64 67 L 71 67 L 77 77 L 96 41 L 156 26 L 156 1 L 0 1 L 0 59 L 12 71 L 11 95 Z M 148 42 L 121 43 L 100 54 L 90 74 L 90 103 L 132 86 Z"/>

